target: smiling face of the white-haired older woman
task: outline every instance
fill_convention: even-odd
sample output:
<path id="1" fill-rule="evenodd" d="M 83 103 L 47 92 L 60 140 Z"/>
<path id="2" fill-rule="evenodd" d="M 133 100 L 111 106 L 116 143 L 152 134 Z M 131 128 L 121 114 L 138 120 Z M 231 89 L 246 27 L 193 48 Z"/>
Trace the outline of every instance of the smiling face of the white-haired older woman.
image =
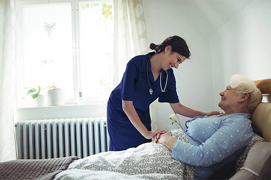
<path id="1" fill-rule="evenodd" d="M 221 96 L 221 100 L 218 103 L 218 106 L 227 111 L 227 110 L 234 110 L 235 107 L 239 105 L 238 100 L 240 95 L 232 89 L 229 85 L 223 92 L 220 92 L 219 95 Z"/>

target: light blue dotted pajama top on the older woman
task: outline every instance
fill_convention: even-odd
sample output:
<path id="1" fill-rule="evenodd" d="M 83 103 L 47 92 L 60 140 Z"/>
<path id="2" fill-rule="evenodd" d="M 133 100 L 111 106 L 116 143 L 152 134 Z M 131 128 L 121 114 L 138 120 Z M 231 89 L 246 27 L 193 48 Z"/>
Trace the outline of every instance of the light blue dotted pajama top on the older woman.
<path id="1" fill-rule="evenodd" d="M 185 123 L 190 143 L 177 140 L 172 158 L 194 166 L 194 178 L 206 179 L 236 160 L 253 136 L 248 113 L 197 116 Z"/>

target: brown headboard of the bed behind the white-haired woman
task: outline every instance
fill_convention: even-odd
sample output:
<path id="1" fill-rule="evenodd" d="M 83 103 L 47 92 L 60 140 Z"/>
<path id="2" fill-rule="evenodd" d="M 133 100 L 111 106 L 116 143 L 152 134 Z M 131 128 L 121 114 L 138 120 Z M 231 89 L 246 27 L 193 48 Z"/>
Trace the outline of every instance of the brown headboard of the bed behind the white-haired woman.
<path id="1" fill-rule="evenodd" d="M 271 94 L 271 78 L 255 80 L 262 94 Z M 260 130 L 262 137 L 271 142 L 271 102 L 261 102 L 251 115 L 252 126 Z"/>

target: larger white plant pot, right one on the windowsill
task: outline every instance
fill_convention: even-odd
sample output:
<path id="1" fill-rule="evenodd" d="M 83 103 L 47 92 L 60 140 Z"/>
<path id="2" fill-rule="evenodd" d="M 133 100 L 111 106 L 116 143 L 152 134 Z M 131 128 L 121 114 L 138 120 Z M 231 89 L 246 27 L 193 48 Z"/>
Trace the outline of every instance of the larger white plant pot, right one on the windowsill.
<path id="1" fill-rule="evenodd" d="M 48 90 L 48 105 L 65 105 L 65 90 L 64 89 L 49 89 Z"/>

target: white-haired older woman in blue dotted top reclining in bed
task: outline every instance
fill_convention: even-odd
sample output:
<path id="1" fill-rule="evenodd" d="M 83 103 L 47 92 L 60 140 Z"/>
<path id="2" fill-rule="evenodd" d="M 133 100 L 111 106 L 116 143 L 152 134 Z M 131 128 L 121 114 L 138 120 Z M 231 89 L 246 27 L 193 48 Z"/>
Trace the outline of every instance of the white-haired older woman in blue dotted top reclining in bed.
<path id="1" fill-rule="evenodd" d="M 218 106 L 224 114 L 186 121 L 184 131 L 190 143 L 172 137 L 171 132 L 154 138 L 172 151 L 172 158 L 193 165 L 195 179 L 208 178 L 234 161 L 253 135 L 250 114 L 262 100 L 253 81 L 235 74 L 220 96 Z"/>

